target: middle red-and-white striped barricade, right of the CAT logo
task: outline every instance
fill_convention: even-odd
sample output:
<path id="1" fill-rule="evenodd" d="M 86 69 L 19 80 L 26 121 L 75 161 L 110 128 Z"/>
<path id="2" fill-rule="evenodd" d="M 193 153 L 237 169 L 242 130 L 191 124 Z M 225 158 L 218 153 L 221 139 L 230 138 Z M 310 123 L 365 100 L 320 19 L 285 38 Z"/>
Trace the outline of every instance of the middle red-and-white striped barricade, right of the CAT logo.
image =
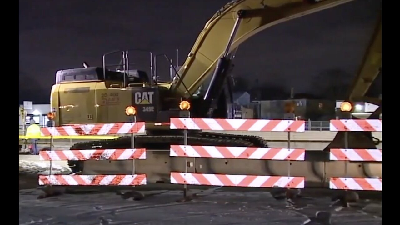
<path id="1" fill-rule="evenodd" d="M 170 129 L 209 131 L 304 132 L 304 121 L 259 119 L 171 118 Z M 186 133 L 186 132 L 185 132 Z M 185 135 L 185 139 L 187 136 Z M 290 139 L 288 139 L 290 145 Z M 233 187 L 304 188 L 304 177 L 290 176 L 290 160 L 304 161 L 305 149 L 172 145 L 171 157 L 288 160 L 288 176 L 230 175 L 171 172 L 174 184 Z M 185 189 L 186 190 L 186 189 Z"/>

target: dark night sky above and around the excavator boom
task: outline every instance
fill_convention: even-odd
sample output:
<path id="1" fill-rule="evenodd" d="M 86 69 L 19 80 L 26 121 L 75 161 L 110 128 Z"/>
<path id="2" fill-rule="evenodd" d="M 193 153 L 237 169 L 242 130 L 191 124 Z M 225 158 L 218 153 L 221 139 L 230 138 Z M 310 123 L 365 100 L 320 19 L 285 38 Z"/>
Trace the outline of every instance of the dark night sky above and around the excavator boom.
<path id="1" fill-rule="evenodd" d="M 19 100 L 48 103 L 55 72 L 101 66 L 105 52 L 146 48 L 182 64 L 206 21 L 229 0 L 19 0 Z M 235 76 L 314 92 L 326 70 L 354 75 L 381 0 L 356 0 L 264 30 L 242 44 Z M 132 56 L 145 69 L 147 55 Z M 115 62 L 114 62 L 115 63 Z M 158 67 L 168 76 L 166 63 Z M 350 79 L 351 80 L 351 79 Z"/>

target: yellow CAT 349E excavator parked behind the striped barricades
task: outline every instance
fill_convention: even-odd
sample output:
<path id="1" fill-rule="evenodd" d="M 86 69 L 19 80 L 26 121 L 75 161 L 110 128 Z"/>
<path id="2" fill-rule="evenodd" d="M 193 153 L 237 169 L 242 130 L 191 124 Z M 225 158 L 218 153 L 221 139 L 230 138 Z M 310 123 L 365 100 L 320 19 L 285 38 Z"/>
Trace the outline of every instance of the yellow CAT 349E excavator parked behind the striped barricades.
<path id="1" fill-rule="evenodd" d="M 178 107 L 182 100 L 190 102 L 191 117 L 233 118 L 232 78 L 229 72 L 240 44 L 271 26 L 351 1 L 233 0 L 208 20 L 179 70 L 171 66 L 174 74 L 168 82 L 159 82 L 156 78 L 156 58 L 160 55 L 143 49 L 104 54 L 102 67 L 90 67 L 84 63 L 83 68 L 59 70 L 56 73 L 56 84 L 51 90 L 54 125 L 132 122 L 134 118 L 126 115 L 126 109 L 134 107 L 136 120 L 146 122 L 147 132 L 146 135 L 136 136 L 136 148 L 163 150 L 169 149 L 171 144 L 183 144 L 181 131 L 170 130 L 168 124 L 171 117 L 183 115 L 184 111 Z M 129 53 L 132 52 L 145 52 L 150 56 L 150 74 L 130 68 Z M 110 54 L 122 55 L 118 69 L 107 66 L 106 56 Z M 168 60 L 166 55 L 161 57 Z M 355 98 L 360 100 L 364 96 L 378 75 L 380 67 L 381 22 L 379 20 L 348 100 Z M 207 83 L 207 88 L 199 91 L 199 87 Z M 370 135 L 356 136 L 350 138 L 349 148 L 375 148 L 376 143 Z M 359 143 L 362 143 L 362 146 L 358 145 Z M 268 147 L 267 141 L 260 137 L 202 131 L 189 132 L 188 144 Z M 77 143 L 71 149 L 116 149 L 130 148 L 130 145 L 130 137 L 120 137 L 114 140 Z M 161 151 L 160 154 L 165 155 L 165 152 Z M 118 169 L 125 166 L 130 168 L 128 164 L 123 163 L 123 161 L 107 161 L 100 169 L 91 169 L 89 167 L 93 164 L 90 161 L 69 162 L 74 173 L 85 170 L 85 174 L 118 174 L 129 171 L 129 169 Z M 165 161 L 165 164 L 167 163 Z M 163 162 L 160 163 L 160 168 L 161 164 Z M 241 166 L 237 164 L 236 167 Z M 165 173 L 169 178 L 166 171 L 154 173 Z"/>

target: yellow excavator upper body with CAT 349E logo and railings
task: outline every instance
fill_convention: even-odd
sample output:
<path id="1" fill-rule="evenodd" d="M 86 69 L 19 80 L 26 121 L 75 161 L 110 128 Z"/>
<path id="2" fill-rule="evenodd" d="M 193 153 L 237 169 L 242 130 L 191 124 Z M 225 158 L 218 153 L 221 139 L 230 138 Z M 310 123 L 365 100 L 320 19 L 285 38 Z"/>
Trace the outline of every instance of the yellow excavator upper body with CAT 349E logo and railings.
<path id="1" fill-rule="evenodd" d="M 179 117 L 180 98 L 169 92 L 168 83 L 154 80 L 153 54 L 150 52 L 150 74 L 131 69 L 128 51 L 121 53 L 119 64 L 102 67 L 59 70 L 52 87 L 52 111 L 55 125 L 76 123 L 121 123 L 145 121 L 168 122 Z M 154 61 L 155 64 L 155 61 Z M 160 97 L 162 96 L 162 97 Z M 126 115 L 127 107 L 134 107 L 135 117 Z"/>

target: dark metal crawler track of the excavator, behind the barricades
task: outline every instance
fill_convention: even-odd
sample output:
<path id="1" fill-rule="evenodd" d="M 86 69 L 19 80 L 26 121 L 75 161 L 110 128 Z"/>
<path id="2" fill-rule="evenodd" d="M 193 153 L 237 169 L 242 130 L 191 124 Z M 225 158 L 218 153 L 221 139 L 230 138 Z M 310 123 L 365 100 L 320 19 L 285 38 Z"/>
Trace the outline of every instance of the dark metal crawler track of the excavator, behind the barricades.
<path id="1" fill-rule="evenodd" d="M 135 148 L 166 150 L 170 145 L 183 145 L 183 135 L 139 135 L 134 138 Z M 268 147 L 268 142 L 261 137 L 250 135 L 231 135 L 212 132 L 188 134 L 188 145 L 233 146 L 233 147 Z M 80 142 L 70 149 L 128 149 L 131 148 L 131 137 L 120 137 L 114 140 Z M 68 161 L 72 173 L 81 173 L 84 161 Z"/>

